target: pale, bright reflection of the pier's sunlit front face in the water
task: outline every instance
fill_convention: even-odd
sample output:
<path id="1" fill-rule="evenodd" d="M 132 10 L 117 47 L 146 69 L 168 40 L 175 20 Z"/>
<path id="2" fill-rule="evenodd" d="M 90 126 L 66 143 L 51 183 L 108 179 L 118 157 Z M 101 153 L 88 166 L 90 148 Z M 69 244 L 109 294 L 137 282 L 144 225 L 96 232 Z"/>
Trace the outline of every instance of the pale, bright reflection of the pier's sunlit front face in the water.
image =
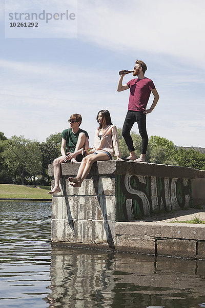
<path id="1" fill-rule="evenodd" d="M 115 286 L 112 259 L 114 255 L 100 256 L 77 251 L 58 251 L 51 254 L 51 287 L 49 297 L 64 304 L 64 308 L 110 307 Z"/>

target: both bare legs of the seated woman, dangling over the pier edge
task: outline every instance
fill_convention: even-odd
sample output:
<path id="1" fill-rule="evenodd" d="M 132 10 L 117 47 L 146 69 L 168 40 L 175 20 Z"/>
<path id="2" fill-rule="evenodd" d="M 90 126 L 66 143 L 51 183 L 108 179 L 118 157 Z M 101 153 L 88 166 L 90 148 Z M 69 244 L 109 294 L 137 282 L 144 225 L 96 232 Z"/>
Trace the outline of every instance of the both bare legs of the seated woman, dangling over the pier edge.
<path id="1" fill-rule="evenodd" d="M 83 180 L 89 174 L 90 169 L 92 167 L 92 164 L 96 161 L 101 161 L 101 160 L 109 160 L 109 157 L 105 153 L 99 153 L 97 155 L 91 154 L 91 155 L 85 157 L 80 164 L 80 167 L 81 167 L 81 165 L 82 165 L 82 167 L 81 168 L 79 167 L 78 174 L 77 174 L 76 178 L 69 178 L 69 181 L 74 182 L 74 184 L 70 183 L 70 185 L 72 185 L 74 187 L 80 187 Z M 86 162 L 86 164 L 85 164 L 85 162 Z M 72 180 L 70 180 L 70 179 L 72 179 Z"/>

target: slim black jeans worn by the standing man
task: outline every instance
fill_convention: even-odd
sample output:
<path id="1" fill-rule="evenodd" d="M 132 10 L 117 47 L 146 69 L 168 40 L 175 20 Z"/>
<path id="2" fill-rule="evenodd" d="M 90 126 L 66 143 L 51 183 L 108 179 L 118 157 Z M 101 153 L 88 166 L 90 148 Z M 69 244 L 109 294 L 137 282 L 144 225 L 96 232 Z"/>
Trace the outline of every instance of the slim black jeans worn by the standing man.
<path id="1" fill-rule="evenodd" d="M 122 127 L 122 136 L 125 139 L 129 151 L 134 151 L 135 148 L 133 146 L 132 137 L 130 136 L 130 131 L 135 122 L 137 122 L 139 134 L 142 139 L 141 154 L 146 154 L 148 146 L 148 134 L 146 129 L 146 114 L 143 113 L 143 111 L 128 110 L 124 125 Z"/>

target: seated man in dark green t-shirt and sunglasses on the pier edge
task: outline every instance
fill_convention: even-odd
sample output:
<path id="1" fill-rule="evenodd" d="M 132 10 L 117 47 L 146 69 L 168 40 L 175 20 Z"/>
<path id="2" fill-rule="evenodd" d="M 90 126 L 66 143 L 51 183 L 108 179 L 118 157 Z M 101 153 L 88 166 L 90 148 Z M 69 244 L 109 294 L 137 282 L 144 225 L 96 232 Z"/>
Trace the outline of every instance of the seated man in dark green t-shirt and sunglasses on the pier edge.
<path id="1" fill-rule="evenodd" d="M 87 150 L 89 146 L 88 142 L 88 133 L 87 131 L 79 128 L 82 117 L 80 114 L 74 113 L 70 116 L 68 120 L 70 123 L 70 128 L 64 129 L 61 133 L 62 142 L 60 152 L 62 156 L 54 159 L 53 161 L 53 173 L 55 184 L 51 191 L 48 194 L 55 194 L 60 192 L 59 180 L 60 180 L 60 164 L 65 162 L 81 162 L 83 155 L 81 152 Z"/>

